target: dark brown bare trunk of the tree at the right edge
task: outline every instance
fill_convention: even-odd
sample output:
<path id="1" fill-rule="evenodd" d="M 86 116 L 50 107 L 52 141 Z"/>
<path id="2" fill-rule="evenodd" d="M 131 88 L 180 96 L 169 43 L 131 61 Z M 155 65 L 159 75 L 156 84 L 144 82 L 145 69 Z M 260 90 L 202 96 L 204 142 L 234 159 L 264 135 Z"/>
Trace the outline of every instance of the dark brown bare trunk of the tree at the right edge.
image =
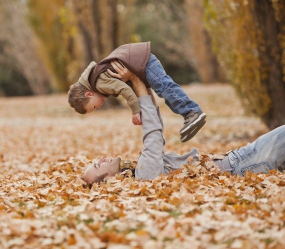
<path id="1" fill-rule="evenodd" d="M 285 3 L 280 1 L 279 4 L 283 4 L 281 9 L 284 9 Z M 264 83 L 271 99 L 271 108 L 262 119 L 273 129 L 285 123 L 285 75 L 282 72 L 285 62 L 282 62 L 280 39 L 281 34 L 283 37 L 285 35 L 285 23 L 284 19 L 275 19 L 271 0 L 255 0 L 254 11 L 264 38 L 264 46 L 259 48 L 259 54 L 262 66 L 267 69 Z M 280 18 L 284 18 L 282 14 Z"/>

